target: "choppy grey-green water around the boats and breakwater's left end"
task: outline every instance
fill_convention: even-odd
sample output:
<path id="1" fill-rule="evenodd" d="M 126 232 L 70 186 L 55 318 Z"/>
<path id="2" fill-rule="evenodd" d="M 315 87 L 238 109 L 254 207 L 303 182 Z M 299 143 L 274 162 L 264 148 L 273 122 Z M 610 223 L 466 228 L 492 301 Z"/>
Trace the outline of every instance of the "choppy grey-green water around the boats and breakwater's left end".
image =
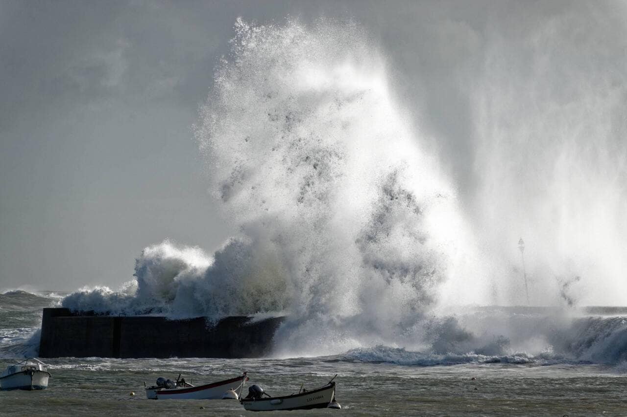
<path id="1" fill-rule="evenodd" d="M 0 294 L 0 368 L 36 356 L 41 309 L 54 293 Z M 249 384 L 270 394 L 316 388 L 338 374 L 342 410 L 288 415 L 624 416 L 627 369 L 622 362 L 564 358 L 427 356 L 377 346 L 334 356 L 288 359 L 44 359 L 52 374 L 43 391 L 0 391 L 0 414 L 15 416 L 251 414 L 233 400 L 145 398 L 144 382 L 179 373 L 194 384 L 248 371 Z M 473 379 L 474 378 L 474 379 Z M 131 395 L 130 393 L 135 393 Z"/>

